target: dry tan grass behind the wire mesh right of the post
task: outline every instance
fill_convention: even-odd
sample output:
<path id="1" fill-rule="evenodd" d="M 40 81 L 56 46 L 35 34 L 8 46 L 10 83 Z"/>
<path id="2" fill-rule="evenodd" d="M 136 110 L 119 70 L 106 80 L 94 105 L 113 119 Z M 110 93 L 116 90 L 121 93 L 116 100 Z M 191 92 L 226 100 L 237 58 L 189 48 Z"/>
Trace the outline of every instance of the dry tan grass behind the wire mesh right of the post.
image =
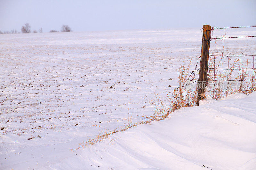
<path id="1" fill-rule="evenodd" d="M 250 64 L 248 59 L 243 62 L 240 57 L 228 57 L 228 60 L 224 61 L 223 56 L 221 56 L 219 62 L 216 63 L 216 60 L 218 61 L 215 56 L 210 57 L 207 80 L 214 83 L 214 86 L 208 85 L 205 90 L 206 96 L 220 100 L 222 97 L 235 92 L 250 94 L 255 91 L 256 84 L 253 74 L 255 70 L 248 68 Z M 220 88 L 221 83 L 226 87 Z"/>

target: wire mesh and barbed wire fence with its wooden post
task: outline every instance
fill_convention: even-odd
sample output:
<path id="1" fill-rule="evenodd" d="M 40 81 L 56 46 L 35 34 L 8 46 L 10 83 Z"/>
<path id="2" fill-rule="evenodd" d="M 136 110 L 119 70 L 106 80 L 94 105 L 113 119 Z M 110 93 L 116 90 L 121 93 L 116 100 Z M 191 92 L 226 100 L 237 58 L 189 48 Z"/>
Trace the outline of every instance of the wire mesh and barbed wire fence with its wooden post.
<path id="1" fill-rule="evenodd" d="M 221 97 L 234 92 L 251 93 L 256 91 L 256 68 L 254 65 L 256 55 L 223 54 L 223 39 L 251 38 L 256 36 L 211 37 L 211 32 L 214 29 L 249 27 L 256 26 L 224 28 L 203 26 L 201 56 L 198 58 L 195 69 L 191 74 L 188 74 L 188 68 L 184 68 L 184 66 L 180 68 L 180 73 L 185 75 L 179 75 L 179 87 L 174 89 L 173 97 L 179 100 L 177 103 L 183 103 L 185 106 L 198 106 L 199 101 L 206 96 L 219 100 Z M 221 55 L 209 55 L 210 42 L 212 40 L 215 40 L 215 44 L 216 41 L 223 41 L 223 52 Z M 200 67 L 198 68 L 199 60 Z M 195 80 L 195 75 L 198 74 L 197 71 L 199 71 L 198 80 Z"/>

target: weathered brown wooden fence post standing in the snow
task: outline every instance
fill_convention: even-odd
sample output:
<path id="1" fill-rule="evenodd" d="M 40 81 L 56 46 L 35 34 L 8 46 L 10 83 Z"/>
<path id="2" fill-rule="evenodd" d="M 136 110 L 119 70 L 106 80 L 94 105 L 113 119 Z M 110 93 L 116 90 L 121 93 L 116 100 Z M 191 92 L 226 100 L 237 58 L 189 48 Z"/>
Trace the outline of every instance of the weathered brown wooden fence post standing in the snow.
<path id="1" fill-rule="evenodd" d="M 201 60 L 200 60 L 200 70 L 199 70 L 199 77 L 198 77 L 198 81 L 197 81 L 198 94 L 197 94 L 196 106 L 199 106 L 199 101 L 203 99 L 205 85 L 207 83 L 207 70 L 208 70 L 210 41 L 211 41 L 211 26 L 204 25 L 202 49 L 201 49 Z"/>

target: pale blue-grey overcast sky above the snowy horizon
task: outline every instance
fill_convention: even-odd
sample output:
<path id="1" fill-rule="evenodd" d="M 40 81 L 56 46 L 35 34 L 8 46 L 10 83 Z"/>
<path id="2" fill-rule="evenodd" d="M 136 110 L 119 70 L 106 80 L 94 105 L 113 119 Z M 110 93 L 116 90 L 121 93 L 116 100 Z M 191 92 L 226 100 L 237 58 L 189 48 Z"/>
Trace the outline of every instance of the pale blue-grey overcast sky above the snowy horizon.
<path id="1" fill-rule="evenodd" d="M 0 30 L 166 29 L 256 24 L 256 0 L 0 0 Z"/>

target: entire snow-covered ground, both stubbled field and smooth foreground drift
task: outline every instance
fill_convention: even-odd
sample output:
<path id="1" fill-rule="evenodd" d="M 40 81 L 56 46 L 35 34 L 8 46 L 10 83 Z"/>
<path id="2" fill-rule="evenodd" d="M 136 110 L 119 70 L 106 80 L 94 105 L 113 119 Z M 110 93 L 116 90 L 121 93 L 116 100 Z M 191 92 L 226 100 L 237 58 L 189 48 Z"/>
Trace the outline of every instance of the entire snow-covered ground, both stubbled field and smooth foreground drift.
<path id="1" fill-rule="evenodd" d="M 227 33 L 241 35 L 256 30 Z M 154 114 L 149 101 L 177 87 L 183 60 L 194 70 L 201 43 L 200 28 L 0 34 L 0 169 L 255 169 L 255 93 L 69 149 Z M 255 44 L 225 40 L 224 54 L 254 55 Z"/>

